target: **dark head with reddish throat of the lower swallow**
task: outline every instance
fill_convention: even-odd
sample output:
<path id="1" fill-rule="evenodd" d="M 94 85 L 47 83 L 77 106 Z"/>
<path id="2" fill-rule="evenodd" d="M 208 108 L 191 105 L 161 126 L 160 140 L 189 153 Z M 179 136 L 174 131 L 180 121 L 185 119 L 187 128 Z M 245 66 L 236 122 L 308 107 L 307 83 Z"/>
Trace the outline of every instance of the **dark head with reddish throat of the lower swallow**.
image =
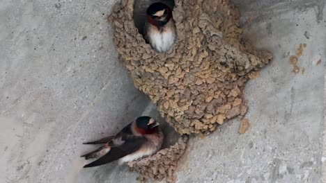
<path id="1" fill-rule="evenodd" d="M 157 123 L 155 119 L 149 116 L 140 116 L 136 119 L 137 131 L 141 134 L 151 134 L 156 132 L 158 125 L 160 125 L 160 123 Z"/>

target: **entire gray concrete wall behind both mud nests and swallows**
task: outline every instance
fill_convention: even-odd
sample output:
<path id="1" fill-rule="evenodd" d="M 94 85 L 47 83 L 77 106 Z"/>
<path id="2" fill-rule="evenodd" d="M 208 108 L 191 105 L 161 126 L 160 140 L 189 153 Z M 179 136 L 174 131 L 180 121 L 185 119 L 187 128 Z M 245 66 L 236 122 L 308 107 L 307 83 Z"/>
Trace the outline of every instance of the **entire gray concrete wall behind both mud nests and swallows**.
<path id="1" fill-rule="evenodd" d="M 234 1 L 242 21 L 258 15 L 245 37 L 274 61 L 247 85 L 249 131 L 233 120 L 192 139 L 178 182 L 321 182 L 325 1 Z M 113 3 L 1 1 L 0 182 L 135 182 L 125 166 L 84 170 L 79 158 L 94 148 L 82 142 L 157 115 L 118 62 L 105 19 Z M 288 59 L 300 43 L 305 72 L 295 75 Z"/>

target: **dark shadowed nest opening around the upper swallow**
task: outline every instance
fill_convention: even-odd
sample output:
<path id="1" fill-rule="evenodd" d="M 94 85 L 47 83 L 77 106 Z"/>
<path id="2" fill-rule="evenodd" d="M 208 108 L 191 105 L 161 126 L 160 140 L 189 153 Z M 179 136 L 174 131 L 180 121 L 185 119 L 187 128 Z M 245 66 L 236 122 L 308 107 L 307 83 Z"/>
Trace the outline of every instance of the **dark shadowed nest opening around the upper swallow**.
<path id="1" fill-rule="evenodd" d="M 173 10 L 174 8 L 174 0 L 134 0 L 134 26 L 138 29 L 138 33 L 141 35 L 143 34 L 143 26 L 145 25 L 145 22 L 147 21 L 146 18 L 146 10 L 148 6 L 150 6 L 152 3 L 156 2 L 162 2 L 165 3 L 167 6 Z"/>

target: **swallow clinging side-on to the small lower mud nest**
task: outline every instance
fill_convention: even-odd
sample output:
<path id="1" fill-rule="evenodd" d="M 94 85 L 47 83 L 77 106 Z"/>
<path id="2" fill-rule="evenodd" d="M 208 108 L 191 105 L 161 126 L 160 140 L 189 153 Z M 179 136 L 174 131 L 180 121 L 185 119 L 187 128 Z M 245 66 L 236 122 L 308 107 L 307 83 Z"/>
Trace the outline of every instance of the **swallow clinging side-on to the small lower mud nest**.
<path id="1" fill-rule="evenodd" d="M 118 160 L 119 164 L 148 157 L 160 150 L 164 134 L 159 123 L 149 116 L 140 116 L 114 136 L 104 137 L 84 144 L 104 144 L 85 159 L 98 158 L 84 168 L 100 166 Z"/>

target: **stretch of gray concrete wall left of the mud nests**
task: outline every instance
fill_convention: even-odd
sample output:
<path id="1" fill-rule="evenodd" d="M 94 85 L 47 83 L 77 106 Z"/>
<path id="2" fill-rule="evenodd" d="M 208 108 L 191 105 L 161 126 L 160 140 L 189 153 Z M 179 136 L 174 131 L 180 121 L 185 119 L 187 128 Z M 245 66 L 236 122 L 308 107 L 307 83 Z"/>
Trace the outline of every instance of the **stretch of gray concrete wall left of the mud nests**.
<path id="1" fill-rule="evenodd" d="M 115 1 L 1 1 L 0 182 L 102 182 L 82 142 L 117 132 L 148 98 L 118 62 Z"/>

